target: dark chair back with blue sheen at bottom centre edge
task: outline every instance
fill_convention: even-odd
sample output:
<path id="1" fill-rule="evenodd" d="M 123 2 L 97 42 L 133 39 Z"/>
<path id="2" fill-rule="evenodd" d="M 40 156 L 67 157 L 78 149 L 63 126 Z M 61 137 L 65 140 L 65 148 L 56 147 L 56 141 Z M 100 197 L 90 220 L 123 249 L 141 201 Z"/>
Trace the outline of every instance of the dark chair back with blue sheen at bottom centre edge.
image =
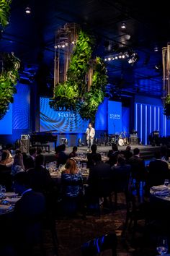
<path id="1" fill-rule="evenodd" d="M 117 255 L 117 236 L 115 233 L 104 234 L 96 237 L 81 246 L 82 256 L 99 255 L 107 249 L 112 249 L 112 256 Z"/>

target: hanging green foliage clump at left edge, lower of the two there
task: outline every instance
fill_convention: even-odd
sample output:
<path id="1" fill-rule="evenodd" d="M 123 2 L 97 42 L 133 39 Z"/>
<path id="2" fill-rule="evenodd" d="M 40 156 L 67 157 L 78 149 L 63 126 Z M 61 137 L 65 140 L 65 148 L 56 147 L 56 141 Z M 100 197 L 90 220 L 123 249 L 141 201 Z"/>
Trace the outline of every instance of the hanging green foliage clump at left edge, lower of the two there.
<path id="1" fill-rule="evenodd" d="M 17 93 L 15 85 L 19 78 L 19 59 L 14 54 L 1 54 L 0 74 L 0 119 L 4 117 L 9 108 L 9 103 L 14 101 L 14 93 Z"/>

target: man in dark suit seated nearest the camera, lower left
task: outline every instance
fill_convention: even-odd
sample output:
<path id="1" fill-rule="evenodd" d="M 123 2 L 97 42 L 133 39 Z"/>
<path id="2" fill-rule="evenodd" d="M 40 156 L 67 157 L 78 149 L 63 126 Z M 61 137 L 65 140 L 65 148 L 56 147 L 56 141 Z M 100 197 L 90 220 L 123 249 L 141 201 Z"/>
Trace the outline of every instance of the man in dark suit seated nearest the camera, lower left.
<path id="1" fill-rule="evenodd" d="M 17 255 L 32 255 L 33 244 L 40 242 L 45 197 L 30 188 L 27 172 L 14 175 L 15 192 L 22 195 L 14 206 L 13 242 Z"/>

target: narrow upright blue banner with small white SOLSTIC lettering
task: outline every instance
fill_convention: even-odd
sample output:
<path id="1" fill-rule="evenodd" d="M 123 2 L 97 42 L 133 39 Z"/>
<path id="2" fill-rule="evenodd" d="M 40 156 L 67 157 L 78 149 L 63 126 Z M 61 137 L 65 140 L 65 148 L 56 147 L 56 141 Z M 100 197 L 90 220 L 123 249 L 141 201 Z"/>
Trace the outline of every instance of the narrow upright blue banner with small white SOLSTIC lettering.
<path id="1" fill-rule="evenodd" d="M 122 102 L 108 101 L 108 134 L 122 132 Z"/>

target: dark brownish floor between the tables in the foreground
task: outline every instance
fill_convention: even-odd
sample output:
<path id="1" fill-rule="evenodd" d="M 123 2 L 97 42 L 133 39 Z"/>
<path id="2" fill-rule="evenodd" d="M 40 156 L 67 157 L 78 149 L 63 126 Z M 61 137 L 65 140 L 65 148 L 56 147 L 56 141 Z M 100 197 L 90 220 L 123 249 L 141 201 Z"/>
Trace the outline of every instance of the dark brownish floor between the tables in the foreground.
<path id="1" fill-rule="evenodd" d="M 113 204 L 114 205 L 114 204 Z M 125 223 L 126 206 L 125 197 L 119 194 L 117 210 L 101 208 L 101 217 L 94 212 L 94 216 L 86 216 L 86 220 L 80 217 L 72 219 L 56 220 L 56 230 L 58 233 L 58 255 L 59 256 L 81 256 L 81 244 L 94 239 L 102 234 L 114 232 L 117 234 L 117 256 L 142 256 L 156 255 L 156 244 L 152 239 L 149 241 L 143 237 L 144 221 L 138 221 L 138 229 L 135 232 L 135 239 L 132 239 L 132 229 L 125 232 L 122 237 L 122 229 Z M 45 235 L 45 248 L 47 256 L 55 255 L 50 232 Z M 102 255 L 111 255 L 107 251 Z"/>

